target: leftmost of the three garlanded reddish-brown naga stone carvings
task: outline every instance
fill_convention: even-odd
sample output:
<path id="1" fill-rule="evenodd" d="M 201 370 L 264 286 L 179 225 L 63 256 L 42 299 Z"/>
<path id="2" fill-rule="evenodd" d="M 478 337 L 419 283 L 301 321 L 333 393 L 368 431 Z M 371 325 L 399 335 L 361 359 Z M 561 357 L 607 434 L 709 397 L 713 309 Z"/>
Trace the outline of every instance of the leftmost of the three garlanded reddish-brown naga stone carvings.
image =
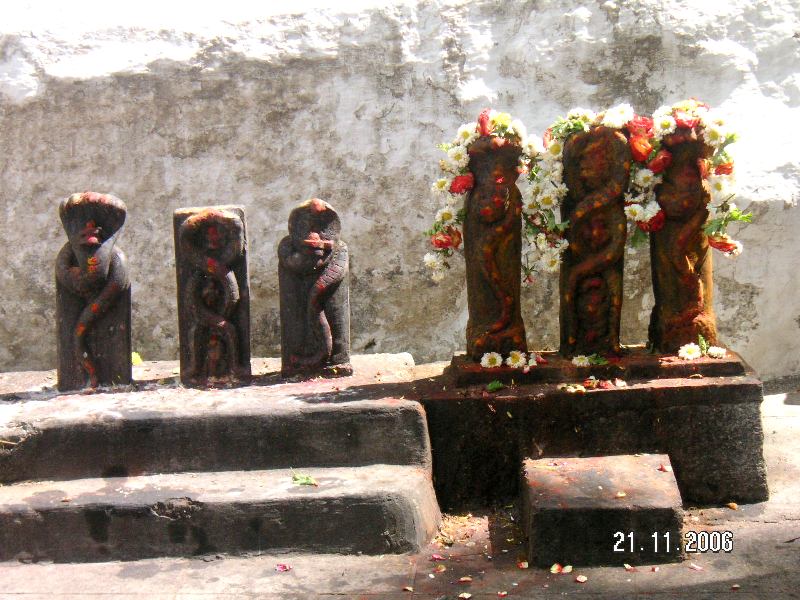
<path id="1" fill-rule="evenodd" d="M 516 181 L 521 148 L 481 136 L 469 146 L 475 185 L 466 199 L 467 355 L 527 350 L 520 312 L 522 202 Z"/>

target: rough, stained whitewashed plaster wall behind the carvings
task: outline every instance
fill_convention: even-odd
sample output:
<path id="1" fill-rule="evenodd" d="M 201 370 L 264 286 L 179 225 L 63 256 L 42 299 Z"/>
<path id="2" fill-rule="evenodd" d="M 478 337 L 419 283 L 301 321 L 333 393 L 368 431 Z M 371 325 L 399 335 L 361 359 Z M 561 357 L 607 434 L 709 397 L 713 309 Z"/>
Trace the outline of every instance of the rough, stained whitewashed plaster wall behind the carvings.
<path id="1" fill-rule="evenodd" d="M 435 144 L 486 105 L 541 133 L 576 105 L 645 112 L 697 96 L 738 123 L 738 203 L 757 217 L 741 257 L 715 256 L 720 330 L 764 377 L 800 374 L 800 8 L 698 4 L 362 2 L 266 15 L 234 2 L 227 21 L 129 10 L 134 20 L 70 27 L 28 9 L 27 22 L 0 24 L 0 369 L 55 364 L 56 205 L 85 189 L 128 205 L 121 246 L 147 359 L 177 356 L 171 212 L 215 203 L 245 206 L 253 354 L 278 354 L 276 249 L 291 208 L 312 196 L 343 217 L 354 351 L 446 359 L 464 345 L 466 291 L 461 261 L 439 285 L 420 262 Z M 626 260 L 623 336 L 637 342 L 649 259 Z M 524 295 L 530 343 L 554 347 L 557 276 Z"/>

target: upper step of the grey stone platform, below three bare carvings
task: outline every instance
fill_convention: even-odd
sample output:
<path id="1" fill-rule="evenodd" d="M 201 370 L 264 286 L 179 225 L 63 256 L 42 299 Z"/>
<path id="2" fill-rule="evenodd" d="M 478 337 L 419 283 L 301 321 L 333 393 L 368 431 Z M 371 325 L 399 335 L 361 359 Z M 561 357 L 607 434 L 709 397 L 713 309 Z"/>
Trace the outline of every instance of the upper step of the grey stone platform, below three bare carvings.
<path id="1" fill-rule="evenodd" d="M 0 482 L 430 466 L 420 404 L 348 387 L 347 379 L 223 390 L 157 386 L 0 403 Z"/>

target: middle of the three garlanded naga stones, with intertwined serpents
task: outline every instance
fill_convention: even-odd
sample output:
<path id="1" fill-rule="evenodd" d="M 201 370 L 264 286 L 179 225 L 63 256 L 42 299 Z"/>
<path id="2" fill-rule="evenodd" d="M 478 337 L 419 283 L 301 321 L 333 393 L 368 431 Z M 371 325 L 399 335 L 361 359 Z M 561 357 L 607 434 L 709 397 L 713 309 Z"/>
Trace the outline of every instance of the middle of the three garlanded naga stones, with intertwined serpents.
<path id="1" fill-rule="evenodd" d="M 561 265 L 561 353 L 620 352 L 624 193 L 631 153 L 625 136 L 607 127 L 572 135 L 564 145 L 569 192 L 562 216 L 570 223 Z"/>

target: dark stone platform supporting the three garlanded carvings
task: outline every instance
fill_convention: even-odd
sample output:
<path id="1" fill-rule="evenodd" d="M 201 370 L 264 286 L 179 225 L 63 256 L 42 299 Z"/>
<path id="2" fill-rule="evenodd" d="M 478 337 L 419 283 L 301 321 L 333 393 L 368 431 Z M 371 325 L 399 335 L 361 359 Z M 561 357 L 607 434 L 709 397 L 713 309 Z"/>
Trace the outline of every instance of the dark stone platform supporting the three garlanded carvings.
<path id="1" fill-rule="evenodd" d="M 688 362 L 634 350 L 616 364 L 583 368 L 545 356 L 548 365 L 531 369 L 544 379 L 535 383 L 520 383 L 524 374 L 514 370 L 513 384 L 508 376 L 489 392 L 486 379 L 512 370 L 472 369 L 481 383 L 458 386 L 451 365 L 416 386 L 444 510 L 516 498 L 524 457 L 635 453 L 668 454 L 686 503 L 767 499 L 762 385 L 738 356 Z M 624 387 L 570 393 L 561 385 L 589 375 L 624 379 Z"/>

